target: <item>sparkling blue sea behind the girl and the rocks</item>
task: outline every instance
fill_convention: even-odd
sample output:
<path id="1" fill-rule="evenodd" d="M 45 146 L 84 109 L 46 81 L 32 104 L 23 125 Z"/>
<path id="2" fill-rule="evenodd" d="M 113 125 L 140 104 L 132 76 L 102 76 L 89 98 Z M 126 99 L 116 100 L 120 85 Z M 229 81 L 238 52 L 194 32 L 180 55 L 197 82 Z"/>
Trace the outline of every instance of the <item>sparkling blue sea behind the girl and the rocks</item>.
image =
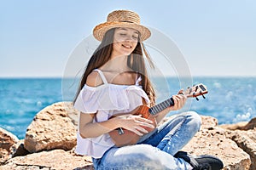
<path id="1" fill-rule="evenodd" d="M 193 77 L 192 81 L 191 87 L 198 83 L 207 87 L 206 99 L 188 99 L 181 111 L 214 116 L 219 124 L 247 122 L 256 116 L 256 77 Z M 48 105 L 72 101 L 78 84 L 77 79 L 61 77 L 0 78 L 0 127 L 24 139 L 33 117 Z M 157 103 L 189 86 L 177 77 L 155 79 L 153 84 L 157 87 Z"/>

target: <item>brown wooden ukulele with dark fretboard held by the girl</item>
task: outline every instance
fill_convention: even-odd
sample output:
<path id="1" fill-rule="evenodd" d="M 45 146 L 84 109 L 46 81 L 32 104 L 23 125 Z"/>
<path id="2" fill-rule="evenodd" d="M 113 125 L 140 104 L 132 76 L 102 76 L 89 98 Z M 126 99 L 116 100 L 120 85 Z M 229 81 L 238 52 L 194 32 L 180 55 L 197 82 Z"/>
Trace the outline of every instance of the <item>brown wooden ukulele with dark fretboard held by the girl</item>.
<path id="1" fill-rule="evenodd" d="M 193 86 L 192 88 L 188 88 L 185 91 L 184 95 L 186 95 L 187 98 L 195 98 L 199 100 L 197 96 L 202 96 L 205 99 L 204 94 L 207 94 L 207 93 L 208 93 L 207 87 L 202 83 L 200 83 Z M 154 105 L 150 108 L 147 105 L 140 105 L 135 110 L 129 113 L 125 113 L 122 115 L 115 115 L 110 118 L 113 118 L 116 116 L 141 115 L 143 118 L 146 118 L 154 122 L 154 127 L 156 127 L 157 124 L 156 124 L 155 116 L 158 113 L 160 113 L 160 111 L 164 111 L 167 107 L 170 107 L 172 105 L 174 105 L 174 101 L 172 98 L 169 98 L 161 102 L 160 104 Z M 145 128 L 148 131 L 148 133 L 154 130 L 154 128 L 150 128 L 150 127 L 143 127 L 143 128 Z M 137 141 L 141 138 L 141 136 L 137 135 L 137 133 L 133 133 L 121 127 L 109 132 L 109 135 L 113 140 L 113 143 L 118 147 L 137 144 Z"/>

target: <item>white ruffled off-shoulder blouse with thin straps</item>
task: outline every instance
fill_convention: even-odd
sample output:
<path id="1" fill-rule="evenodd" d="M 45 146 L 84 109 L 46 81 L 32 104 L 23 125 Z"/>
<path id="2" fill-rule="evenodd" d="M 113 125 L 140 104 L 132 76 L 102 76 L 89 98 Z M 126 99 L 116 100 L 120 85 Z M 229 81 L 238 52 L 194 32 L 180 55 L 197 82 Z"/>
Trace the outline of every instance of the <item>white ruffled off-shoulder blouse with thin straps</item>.
<path id="1" fill-rule="evenodd" d="M 98 71 L 104 83 L 98 87 L 85 84 L 74 104 L 74 107 L 82 112 L 81 114 L 96 113 L 93 122 L 104 122 L 115 114 L 132 111 L 137 106 L 143 105 L 143 99 L 149 103 L 148 95 L 138 84 L 141 77 L 137 79 L 135 85 L 117 85 L 108 83 L 102 71 L 98 69 L 95 71 Z M 101 158 L 113 145 L 108 133 L 96 138 L 83 139 L 78 131 L 75 152 L 79 155 Z"/>

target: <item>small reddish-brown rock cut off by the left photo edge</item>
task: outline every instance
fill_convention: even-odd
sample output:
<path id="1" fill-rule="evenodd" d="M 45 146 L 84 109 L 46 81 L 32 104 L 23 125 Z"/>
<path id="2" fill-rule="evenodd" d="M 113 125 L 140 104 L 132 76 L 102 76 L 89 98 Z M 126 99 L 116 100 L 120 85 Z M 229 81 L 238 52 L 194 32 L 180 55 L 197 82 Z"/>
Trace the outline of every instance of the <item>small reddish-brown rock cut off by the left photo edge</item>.
<path id="1" fill-rule="evenodd" d="M 19 139 L 0 127 L 0 164 L 15 155 Z"/>

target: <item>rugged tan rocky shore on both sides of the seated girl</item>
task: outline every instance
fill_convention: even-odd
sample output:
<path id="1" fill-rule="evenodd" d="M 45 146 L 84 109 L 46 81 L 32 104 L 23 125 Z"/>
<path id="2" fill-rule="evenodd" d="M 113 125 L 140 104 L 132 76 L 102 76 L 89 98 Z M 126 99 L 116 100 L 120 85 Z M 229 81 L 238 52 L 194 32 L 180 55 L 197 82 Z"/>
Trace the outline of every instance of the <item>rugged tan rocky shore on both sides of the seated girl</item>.
<path id="1" fill-rule="evenodd" d="M 90 156 L 73 151 L 78 113 L 70 102 L 49 105 L 34 117 L 22 140 L 0 128 L 0 169 L 93 169 Z M 201 117 L 200 132 L 183 150 L 218 156 L 225 170 L 256 169 L 256 118 L 218 126 L 216 118 Z"/>

